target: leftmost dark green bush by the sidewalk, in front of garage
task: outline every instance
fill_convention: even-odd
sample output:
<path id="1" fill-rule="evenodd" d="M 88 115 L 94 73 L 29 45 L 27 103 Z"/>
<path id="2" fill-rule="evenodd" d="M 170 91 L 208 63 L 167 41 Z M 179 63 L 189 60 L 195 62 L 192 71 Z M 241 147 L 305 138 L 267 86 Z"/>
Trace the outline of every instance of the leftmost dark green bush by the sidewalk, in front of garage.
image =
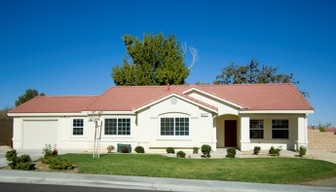
<path id="1" fill-rule="evenodd" d="M 35 165 L 32 163 L 30 156 L 24 154 L 18 157 L 15 149 L 6 152 L 6 159 L 7 161 L 9 161 L 8 165 L 12 169 L 19 169 L 19 170 L 35 169 Z"/>

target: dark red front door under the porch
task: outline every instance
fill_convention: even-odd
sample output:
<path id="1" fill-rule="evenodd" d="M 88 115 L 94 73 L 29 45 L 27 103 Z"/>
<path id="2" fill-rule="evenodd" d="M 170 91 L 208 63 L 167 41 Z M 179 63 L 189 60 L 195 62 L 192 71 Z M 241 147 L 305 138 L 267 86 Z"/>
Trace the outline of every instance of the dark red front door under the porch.
<path id="1" fill-rule="evenodd" d="M 225 120 L 224 122 L 224 144 L 225 147 L 237 147 L 237 121 Z"/>

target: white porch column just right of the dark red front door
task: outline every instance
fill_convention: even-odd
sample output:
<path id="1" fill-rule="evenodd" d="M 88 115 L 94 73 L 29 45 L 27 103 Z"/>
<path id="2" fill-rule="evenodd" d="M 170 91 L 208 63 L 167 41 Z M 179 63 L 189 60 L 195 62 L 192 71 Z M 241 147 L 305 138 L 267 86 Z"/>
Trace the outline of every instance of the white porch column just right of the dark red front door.
<path id="1" fill-rule="evenodd" d="M 250 150 L 250 117 L 240 117 L 240 150 Z"/>

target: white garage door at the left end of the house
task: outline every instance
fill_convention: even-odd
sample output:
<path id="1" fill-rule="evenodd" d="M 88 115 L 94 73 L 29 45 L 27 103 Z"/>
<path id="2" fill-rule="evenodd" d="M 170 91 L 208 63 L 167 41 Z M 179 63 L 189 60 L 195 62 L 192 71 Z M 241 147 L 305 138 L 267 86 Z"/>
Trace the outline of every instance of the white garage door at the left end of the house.
<path id="1" fill-rule="evenodd" d="M 23 122 L 23 149 L 43 149 L 57 144 L 57 120 Z"/>

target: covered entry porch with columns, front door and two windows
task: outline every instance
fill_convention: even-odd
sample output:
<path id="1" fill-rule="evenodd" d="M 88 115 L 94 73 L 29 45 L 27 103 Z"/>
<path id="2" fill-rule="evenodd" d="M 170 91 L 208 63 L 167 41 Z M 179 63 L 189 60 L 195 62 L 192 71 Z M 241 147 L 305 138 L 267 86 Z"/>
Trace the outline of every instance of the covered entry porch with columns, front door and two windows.
<path id="1" fill-rule="evenodd" d="M 306 114 L 224 114 L 215 122 L 217 148 L 296 150 L 308 145 Z"/>

